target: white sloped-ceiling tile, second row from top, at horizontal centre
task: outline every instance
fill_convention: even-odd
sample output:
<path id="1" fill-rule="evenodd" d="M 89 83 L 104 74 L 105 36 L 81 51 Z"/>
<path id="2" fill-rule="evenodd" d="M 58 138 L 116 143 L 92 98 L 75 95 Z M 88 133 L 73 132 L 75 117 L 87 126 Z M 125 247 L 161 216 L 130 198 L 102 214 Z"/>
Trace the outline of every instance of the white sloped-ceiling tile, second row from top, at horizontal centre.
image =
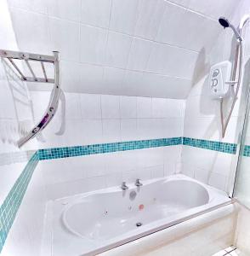
<path id="1" fill-rule="evenodd" d="M 132 37 L 116 32 L 109 32 L 105 64 L 111 67 L 125 68 Z"/>

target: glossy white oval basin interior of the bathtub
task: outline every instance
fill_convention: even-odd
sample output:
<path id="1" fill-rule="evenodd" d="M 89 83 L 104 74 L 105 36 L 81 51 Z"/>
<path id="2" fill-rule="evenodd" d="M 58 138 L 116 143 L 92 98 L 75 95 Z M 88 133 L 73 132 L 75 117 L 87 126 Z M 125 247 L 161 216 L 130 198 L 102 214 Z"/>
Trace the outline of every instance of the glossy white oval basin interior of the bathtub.
<path id="1" fill-rule="evenodd" d="M 150 224 L 209 201 L 201 184 L 184 179 L 114 190 L 87 195 L 67 206 L 62 216 L 65 227 L 83 238 L 105 240 L 136 229 L 136 224 Z"/>

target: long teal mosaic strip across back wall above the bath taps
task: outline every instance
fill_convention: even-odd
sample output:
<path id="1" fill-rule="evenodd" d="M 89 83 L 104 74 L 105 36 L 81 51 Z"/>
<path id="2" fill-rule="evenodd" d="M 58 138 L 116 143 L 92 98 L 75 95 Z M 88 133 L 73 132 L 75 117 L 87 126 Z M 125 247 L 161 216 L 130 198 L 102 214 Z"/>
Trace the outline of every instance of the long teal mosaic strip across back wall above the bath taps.
<path id="1" fill-rule="evenodd" d="M 105 153 L 127 151 L 127 150 L 134 150 L 134 149 L 166 147 L 166 146 L 179 145 L 181 143 L 182 143 L 182 137 L 172 137 L 172 138 L 160 138 L 160 139 L 131 141 L 131 142 L 122 142 L 122 143 L 103 143 L 103 144 L 65 147 L 65 148 L 39 149 L 38 154 L 39 154 L 39 160 L 52 160 L 52 159 L 81 156 L 81 155 L 88 155 L 88 154 L 105 154 Z"/>

